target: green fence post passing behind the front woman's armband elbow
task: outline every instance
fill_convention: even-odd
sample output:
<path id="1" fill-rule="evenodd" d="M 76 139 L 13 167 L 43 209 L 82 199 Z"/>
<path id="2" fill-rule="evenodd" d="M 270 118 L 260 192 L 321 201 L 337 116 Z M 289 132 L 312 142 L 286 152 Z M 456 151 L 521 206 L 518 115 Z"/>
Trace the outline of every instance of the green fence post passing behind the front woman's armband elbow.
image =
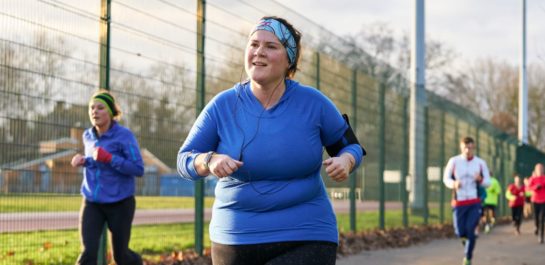
<path id="1" fill-rule="evenodd" d="M 357 135 L 358 127 L 358 70 L 352 70 L 352 123 L 354 133 Z M 356 170 L 350 174 L 350 231 L 356 232 Z"/>

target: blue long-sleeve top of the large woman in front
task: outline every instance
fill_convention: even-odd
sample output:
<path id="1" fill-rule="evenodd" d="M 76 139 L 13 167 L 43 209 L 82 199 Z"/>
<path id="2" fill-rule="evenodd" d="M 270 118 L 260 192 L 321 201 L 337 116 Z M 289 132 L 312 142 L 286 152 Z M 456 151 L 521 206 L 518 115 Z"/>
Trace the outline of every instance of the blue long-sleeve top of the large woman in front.
<path id="1" fill-rule="evenodd" d="M 195 157 L 215 151 L 244 165 L 221 178 L 210 239 L 222 244 L 320 240 L 337 243 L 337 223 L 320 176 L 323 147 L 344 136 L 347 123 L 320 91 L 287 80 L 279 102 L 264 110 L 249 83 L 216 95 L 200 113 L 178 153 L 178 172 L 202 178 Z M 358 144 L 344 147 L 355 167 Z M 354 168 L 355 168 L 354 167 Z"/>

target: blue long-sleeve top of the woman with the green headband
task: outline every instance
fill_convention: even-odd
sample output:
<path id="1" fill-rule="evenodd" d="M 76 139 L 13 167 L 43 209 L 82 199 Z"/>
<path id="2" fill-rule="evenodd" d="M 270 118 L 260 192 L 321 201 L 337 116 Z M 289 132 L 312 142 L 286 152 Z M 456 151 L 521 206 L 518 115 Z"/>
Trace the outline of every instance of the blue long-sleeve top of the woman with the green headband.
<path id="1" fill-rule="evenodd" d="M 113 121 L 100 137 L 93 127 L 83 133 L 85 164 L 81 194 L 86 200 L 111 203 L 133 196 L 135 177 L 144 175 L 144 162 L 133 133 Z M 110 163 L 93 159 L 93 152 L 102 147 L 112 154 Z"/>

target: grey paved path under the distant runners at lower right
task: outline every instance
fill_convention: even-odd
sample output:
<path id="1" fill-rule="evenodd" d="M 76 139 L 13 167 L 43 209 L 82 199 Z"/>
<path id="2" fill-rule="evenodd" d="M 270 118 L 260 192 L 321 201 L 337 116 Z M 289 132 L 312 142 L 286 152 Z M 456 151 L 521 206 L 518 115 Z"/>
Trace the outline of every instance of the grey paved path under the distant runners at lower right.
<path id="1" fill-rule="evenodd" d="M 543 265 L 545 245 L 533 234 L 527 220 L 522 235 L 515 236 L 510 225 L 495 227 L 477 240 L 473 265 Z M 337 265 L 451 265 L 462 264 L 463 247 L 458 239 L 434 240 L 409 248 L 364 251 L 337 260 Z"/>

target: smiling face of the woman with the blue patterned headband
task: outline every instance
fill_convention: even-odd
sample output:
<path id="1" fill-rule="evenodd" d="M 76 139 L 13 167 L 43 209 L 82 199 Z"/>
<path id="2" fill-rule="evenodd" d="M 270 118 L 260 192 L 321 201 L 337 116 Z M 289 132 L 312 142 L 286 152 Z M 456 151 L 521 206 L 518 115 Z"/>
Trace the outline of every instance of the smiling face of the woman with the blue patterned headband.
<path id="1" fill-rule="evenodd" d="M 258 30 L 250 36 L 246 46 L 244 66 L 253 82 L 274 86 L 286 77 L 288 55 L 272 32 Z"/>

